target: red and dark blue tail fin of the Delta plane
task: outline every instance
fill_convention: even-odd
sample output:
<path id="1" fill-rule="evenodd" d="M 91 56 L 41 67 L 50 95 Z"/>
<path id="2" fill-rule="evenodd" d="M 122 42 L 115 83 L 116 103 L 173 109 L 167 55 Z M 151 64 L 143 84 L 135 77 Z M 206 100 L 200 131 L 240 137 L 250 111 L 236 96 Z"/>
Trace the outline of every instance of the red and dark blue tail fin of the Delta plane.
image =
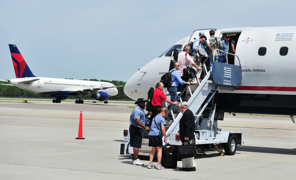
<path id="1" fill-rule="evenodd" d="M 8 44 L 10 49 L 10 54 L 12 58 L 13 67 L 15 68 L 15 77 L 16 78 L 25 78 L 25 77 L 36 77 L 33 75 L 29 66 L 25 62 L 22 54 L 17 49 L 16 45 Z"/>

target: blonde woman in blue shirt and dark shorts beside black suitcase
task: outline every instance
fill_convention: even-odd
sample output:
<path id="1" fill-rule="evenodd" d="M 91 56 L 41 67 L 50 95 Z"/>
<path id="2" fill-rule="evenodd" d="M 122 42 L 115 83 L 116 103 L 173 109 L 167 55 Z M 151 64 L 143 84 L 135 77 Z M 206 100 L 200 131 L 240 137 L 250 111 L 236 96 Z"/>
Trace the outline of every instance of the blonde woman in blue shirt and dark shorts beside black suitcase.
<path id="1" fill-rule="evenodd" d="M 152 164 L 152 160 L 157 150 L 158 164 L 156 166 L 156 169 L 164 169 L 164 167 L 160 164 L 162 151 L 163 151 L 163 141 L 162 141 L 162 138 L 158 136 L 158 134 L 162 134 L 162 136 L 165 137 L 164 142 L 166 143 L 167 138 L 165 134 L 165 117 L 167 116 L 167 114 L 168 114 L 168 108 L 164 107 L 164 108 L 158 109 L 158 114 L 155 116 L 155 118 L 152 119 L 150 132 L 149 132 L 149 147 L 152 147 L 152 150 L 150 152 L 150 161 L 147 168 L 154 168 L 154 165 Z"/>

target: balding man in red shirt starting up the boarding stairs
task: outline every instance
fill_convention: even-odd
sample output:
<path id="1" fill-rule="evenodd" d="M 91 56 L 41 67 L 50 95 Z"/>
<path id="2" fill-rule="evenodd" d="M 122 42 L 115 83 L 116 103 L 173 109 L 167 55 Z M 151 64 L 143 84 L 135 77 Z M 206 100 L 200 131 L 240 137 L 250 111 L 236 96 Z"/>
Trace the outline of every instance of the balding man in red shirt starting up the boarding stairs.
<path id="1" fill-rule="evenodd" d="M 163 105 L 163 101 L 165 102 L 168 102 L 170 104 L 173 104 L 173 105 L 177 105 L 178 102 L 175 101 L 175 102 L 171 102 L 166 96 L 165 94 L 163 93 L 163 89 L 164 89 L 164 86 L 163 86 L 163 83 L 161 82 L 158 82 L 155 86 L 155 90 L 154 90 L 154 93 L 153 93 L 153 97 L 152 97 L 152 101 L 151 101 L 151 106 L 149 108 L 149 111 L 152 112 L 152 115 L 150 116 L 150 124 L 151 124 L 151 121 L 152 119 L 157 115 L 157 109 L 161 109 L 162 108 L 162 105 Z"/>

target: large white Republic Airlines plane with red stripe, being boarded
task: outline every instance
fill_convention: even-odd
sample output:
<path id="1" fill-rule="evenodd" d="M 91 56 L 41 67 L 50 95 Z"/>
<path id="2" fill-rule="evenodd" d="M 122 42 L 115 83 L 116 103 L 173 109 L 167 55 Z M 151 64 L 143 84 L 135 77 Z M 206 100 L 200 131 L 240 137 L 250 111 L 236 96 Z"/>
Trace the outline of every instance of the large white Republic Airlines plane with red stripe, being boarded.
<path id="1" fill-rule="evenodd" d="M 154 87 L 161 76 L 169 71 L 173 50 L 183 49 L 186 44 L 199 38 L 200 31 L 210 38 L 210 30 L 194 30 L 191 36 L 176 42 L 144 65 L 127 81 L 124 93 L 135 100 L 147 99 L 149 88 Z M 213 30 L 215 37 L 221 41 L 226 34 L 229 34 L 231 39 L 239 35 L 235 54 L 242 65 L 241 86 L 233 92 L 219 91 L 216 112 L 295 115 L 296 26 Z M 239 65 L 237 57 L 234 64 Z"/>

